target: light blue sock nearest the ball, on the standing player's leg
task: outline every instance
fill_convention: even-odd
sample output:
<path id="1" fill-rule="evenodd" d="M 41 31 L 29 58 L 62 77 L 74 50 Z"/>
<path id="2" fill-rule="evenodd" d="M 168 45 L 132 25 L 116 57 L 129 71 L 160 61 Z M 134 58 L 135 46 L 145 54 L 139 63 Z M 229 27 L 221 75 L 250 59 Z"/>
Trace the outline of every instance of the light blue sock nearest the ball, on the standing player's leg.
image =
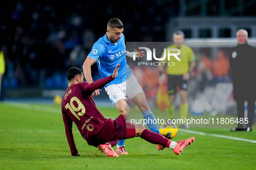
<path id="1" fill-rule="evenodd" d="M 146 112 L 142 112 L 142 116 L 145 119 L 145 123 L 146 123 L 146 120 L 147 120 L 146 124 L 149 127 L 149 129 L 152 132 L 156 132 L 156 133 L 160 134 L 159 128 L 158 128 L 158 125 L 157 125 L 157 120 L 156 120 L 155 116 L 153 115 L 152 111 L 147 110 Z"/>

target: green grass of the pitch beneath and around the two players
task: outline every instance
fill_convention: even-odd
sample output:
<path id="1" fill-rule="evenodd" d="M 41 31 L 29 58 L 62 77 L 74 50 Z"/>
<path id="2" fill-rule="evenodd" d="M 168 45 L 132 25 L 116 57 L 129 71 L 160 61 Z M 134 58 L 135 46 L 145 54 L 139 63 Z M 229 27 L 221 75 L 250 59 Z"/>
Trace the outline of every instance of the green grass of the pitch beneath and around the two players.
<path id="1" fill-rule="evenodd" d="M 99 110 L 108 117 L 118 116 L 113 107 L 99 107 Z M 131 108 L 131 116 L 142 119 L 141 113 L 134 108 Z M 255 129 L 252 132 L 191 130 L 256 140 Z M 73 126 L 73 134 L 82 157 L 69 156 L 59 105 L 0 103 L 0 169 L 233 170 L 256 167 L 256 143 L 251 142 L 178 132 L 174 141 L 195 136 L 193 145 L 181 155 L 175 155 L 169 148 L 157 151 L 156 145 L 137 137 L 125 142 L 129 154 L 116 158 L 106 157 L 97 148 L 87 145 L 76 126 Z"/>

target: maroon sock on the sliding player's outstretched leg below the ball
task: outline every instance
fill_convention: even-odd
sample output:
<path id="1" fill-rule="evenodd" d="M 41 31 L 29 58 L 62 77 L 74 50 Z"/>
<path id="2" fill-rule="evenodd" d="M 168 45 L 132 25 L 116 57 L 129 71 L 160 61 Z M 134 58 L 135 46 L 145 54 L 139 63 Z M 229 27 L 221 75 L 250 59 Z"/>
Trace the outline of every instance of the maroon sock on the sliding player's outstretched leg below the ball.
<path id="1" fill-rule="evenodd" d="M 150 143 L 159 144 L 159 145 L 162 145 L 162 146 L 168 147 L 168 148 L 172 142 L 168 138 L 165 138 L 164 136 L 162 136 L 156 132 L 152 132 L 149 129 L 143 130 L 143 132 L 140 135 L 140 138 L 142 138 Z"/>

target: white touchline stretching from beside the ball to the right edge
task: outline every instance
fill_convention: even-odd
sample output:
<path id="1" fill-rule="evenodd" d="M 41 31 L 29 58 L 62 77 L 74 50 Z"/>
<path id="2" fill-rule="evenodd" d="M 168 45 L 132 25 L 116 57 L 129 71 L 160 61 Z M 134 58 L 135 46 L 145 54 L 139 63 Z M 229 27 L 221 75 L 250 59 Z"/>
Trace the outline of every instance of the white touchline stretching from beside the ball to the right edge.
<path id="1" fill-rule="evenodd" d="M 237 141 L 256 143 L 255 140 L 237 138 L 237 137 L 226 136 L 226 135 L 211 134 L 211 133 L 205 133 L 205 132 L 198 132 L 198 131 L 188 130 L 188 129 L 178 129 L 178 131 L 187 132 L 187 133 L 191 133 L 191 134 L 197 134 L 197 135 L 214 136 L 217 138 L 233 139 L 233 140 L 237 140 Z"/>

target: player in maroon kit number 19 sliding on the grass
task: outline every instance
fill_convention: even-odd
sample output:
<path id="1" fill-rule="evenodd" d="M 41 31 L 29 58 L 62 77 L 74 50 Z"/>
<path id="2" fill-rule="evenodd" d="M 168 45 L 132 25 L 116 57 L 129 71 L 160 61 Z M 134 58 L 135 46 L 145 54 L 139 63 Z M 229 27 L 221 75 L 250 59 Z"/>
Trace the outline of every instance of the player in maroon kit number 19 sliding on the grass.
<path id="1" fill-rule="evenodd" d="M 71 150 L 70 156 L 81 156 L 75 146 L 72 133 L 73 122 L 88 145 L 98 147 L 108 157 L 119 157 L 112 149 L 119 139 L 137 136 L 153 144 L 171 148 L 175 154 L 180 154 L 185 147 L 194 142 L 194 137 L 174 142 L 142 125 L 126 122 L 123 115 L 118 116 L 115 120 L 104 118 L 97 109 L 92 93 L 115 79 L 119 66 L 118 64 L 111 76 L 96 80 L 91 84 L 83 82 L 84 76 L 81 69 L 76 67 L 68 69 L 68 88 L 62 100 L 62 117 Z"/>

